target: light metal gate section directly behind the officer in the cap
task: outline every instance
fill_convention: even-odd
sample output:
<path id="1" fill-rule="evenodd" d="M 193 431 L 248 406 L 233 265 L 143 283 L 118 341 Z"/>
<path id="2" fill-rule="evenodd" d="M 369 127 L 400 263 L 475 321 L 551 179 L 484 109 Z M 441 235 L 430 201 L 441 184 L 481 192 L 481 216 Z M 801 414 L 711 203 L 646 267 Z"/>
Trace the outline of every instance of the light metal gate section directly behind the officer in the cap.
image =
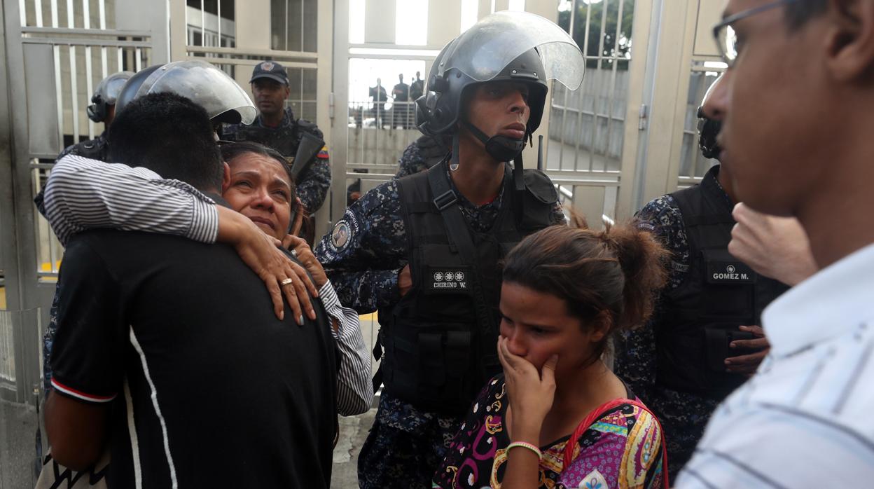
<path id="1" fill-rule="evenodd" d="M 331 150 L 333 14 L 329 0 L 170 0 L 172 59 L 206 59 L 251 96 L 255 65 L 278 61 L 288 71 L 286 102 L 295 117 L 316 122 Z M 327 28 L 326 28 L 327 26 Z M 327 231 L 329 201 L 316 213 L 316 235 Z"/>

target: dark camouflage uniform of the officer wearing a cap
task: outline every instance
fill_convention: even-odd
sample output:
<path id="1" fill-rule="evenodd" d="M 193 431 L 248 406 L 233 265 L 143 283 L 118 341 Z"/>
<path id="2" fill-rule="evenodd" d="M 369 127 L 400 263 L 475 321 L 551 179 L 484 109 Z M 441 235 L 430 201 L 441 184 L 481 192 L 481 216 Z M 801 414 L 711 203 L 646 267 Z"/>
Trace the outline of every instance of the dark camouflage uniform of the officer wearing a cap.
<path id="1" fill-rule="evenodd" d="M 322 130 L 313 122 L 295 119 L 291 108 L 286 108 L 279 126 L 272 128 L 261 122 L 261 116 L 251 125 L 225 124 L 219 135 L 225 141 L 252 141 L 279 151 L 282 156 L 294 158 L 303 132 L 324 139 Z M 291 161 L 289 161 L 291 163 Z M 298 176 L 297 195 L 310 213 L 315 213 L 324 204 L 330 189 L 330 161 L 328 148 L 324 147 Z"/>

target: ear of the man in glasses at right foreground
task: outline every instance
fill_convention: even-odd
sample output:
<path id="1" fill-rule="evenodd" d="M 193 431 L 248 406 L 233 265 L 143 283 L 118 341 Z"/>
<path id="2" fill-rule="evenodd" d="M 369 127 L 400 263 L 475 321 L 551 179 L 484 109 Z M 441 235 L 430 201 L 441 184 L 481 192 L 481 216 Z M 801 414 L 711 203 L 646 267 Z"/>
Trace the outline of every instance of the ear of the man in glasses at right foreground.
<path id="1" fill-rule="evenodd" d="M 852 81 L 874 73 L 874 2 L 830 0 L 826 65 L 836 80 Z"/>

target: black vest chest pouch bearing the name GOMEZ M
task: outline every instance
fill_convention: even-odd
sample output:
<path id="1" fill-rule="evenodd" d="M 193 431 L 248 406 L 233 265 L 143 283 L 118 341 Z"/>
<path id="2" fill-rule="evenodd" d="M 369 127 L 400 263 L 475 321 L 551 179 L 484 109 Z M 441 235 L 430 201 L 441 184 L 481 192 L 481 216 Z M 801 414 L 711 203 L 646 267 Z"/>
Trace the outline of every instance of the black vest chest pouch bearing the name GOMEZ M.
<path id="1" fill-rule="evenodd" d="M 701 254 L 705 284 L 701 317 L 751 321 L 756 273 L 727 249 L 705 249 Z"/>

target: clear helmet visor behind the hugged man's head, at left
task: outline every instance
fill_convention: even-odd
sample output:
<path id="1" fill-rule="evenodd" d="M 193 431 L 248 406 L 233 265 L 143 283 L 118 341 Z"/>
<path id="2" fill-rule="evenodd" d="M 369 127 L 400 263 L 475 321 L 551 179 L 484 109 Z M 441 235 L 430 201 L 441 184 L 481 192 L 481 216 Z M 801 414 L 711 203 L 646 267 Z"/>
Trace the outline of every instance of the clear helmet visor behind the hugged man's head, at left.
<path id="1" fill-rule="evenodd" d="M 172 92 L 191 99 L 205 108 L 210 119 L 228 111 L 236 111 L 240 122 L 251 124 L 257 111 L 252 99 L 227 73 L 198 59 L 174 61 L 156 69 L 136 93 Z"/>

